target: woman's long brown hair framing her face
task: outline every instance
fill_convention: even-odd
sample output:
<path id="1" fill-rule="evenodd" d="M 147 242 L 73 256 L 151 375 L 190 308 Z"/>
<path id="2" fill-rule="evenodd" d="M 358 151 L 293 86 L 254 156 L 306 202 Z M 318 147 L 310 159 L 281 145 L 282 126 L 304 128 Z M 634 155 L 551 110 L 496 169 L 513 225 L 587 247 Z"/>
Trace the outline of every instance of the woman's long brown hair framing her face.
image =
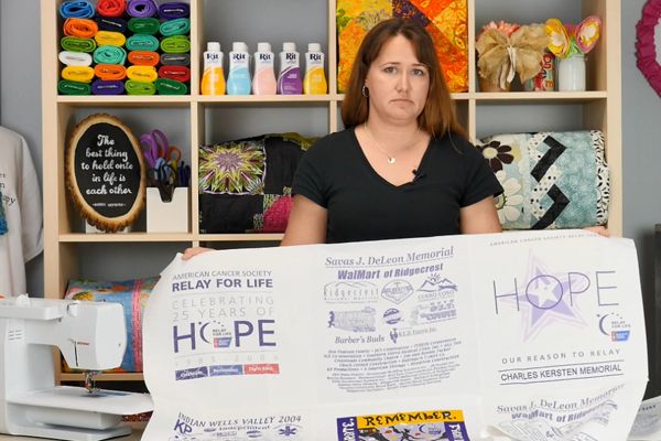
<path id="1" fill-rule="evenodd" d="M 432 37 L 416 21 L 407 19 L 382 21 L 373 26 L 362 40 L 342 104 L 342 120 L 345 127 L 367 121 L 369 101 L 362 95 L 365 77 L 373 61 L 379 56 L 383 44 L 397 35 L 402 35 L 413 43 L 418 60 L 429 69 L 430 90 L 424 109 L 418 117 L 420 126 L 435 139 L 442 138 L 447 132 L 468 139 L 466 131 L 457 120 L 455 105 L 449 97 Z"/>

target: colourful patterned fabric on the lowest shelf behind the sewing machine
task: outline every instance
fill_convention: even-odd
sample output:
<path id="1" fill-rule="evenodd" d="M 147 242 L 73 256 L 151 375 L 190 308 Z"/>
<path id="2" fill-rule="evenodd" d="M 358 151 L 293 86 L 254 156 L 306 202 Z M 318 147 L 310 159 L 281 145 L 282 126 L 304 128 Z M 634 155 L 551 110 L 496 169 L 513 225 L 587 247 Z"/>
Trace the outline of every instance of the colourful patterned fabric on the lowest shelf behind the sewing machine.
<path id="1" fill-rule="evenodd" d="M 65 299 L 116 302 L 124 309 L 127 321 L 127 353 L 121 365 L 107 372 L 133 373 L 142 372 L 142 316 L 147 301 L 159 281 L 159 277 L 149 279 L 127 280 L 123 282 L 102 282 L 93 280 L 69 280 Z M 65 372 L 82 372 L 72 369 L 63 361 Z"/>

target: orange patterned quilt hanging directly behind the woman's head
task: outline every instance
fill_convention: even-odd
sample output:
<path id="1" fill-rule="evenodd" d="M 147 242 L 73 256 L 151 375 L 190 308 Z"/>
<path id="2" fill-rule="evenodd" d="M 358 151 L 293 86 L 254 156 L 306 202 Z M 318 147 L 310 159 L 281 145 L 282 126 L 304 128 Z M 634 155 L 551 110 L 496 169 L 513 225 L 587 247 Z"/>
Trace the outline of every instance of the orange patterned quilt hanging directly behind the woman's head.
<path id="1" fill-rule="evenodd" d="M 451 93 L 468 90 L 466 0 L 337 0 L 337 90 L 346 90 L 365 35 L 380 21 L 412 19 L 429 32 Z"/>

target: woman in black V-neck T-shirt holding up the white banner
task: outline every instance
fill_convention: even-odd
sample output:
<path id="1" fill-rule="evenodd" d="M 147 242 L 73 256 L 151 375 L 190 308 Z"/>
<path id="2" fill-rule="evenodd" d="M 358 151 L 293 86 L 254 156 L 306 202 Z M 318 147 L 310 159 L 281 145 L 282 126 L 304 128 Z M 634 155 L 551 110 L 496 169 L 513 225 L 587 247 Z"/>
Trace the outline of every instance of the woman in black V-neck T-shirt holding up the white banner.
<path id="1" fill-rule="evenodd" d="M 296 170 L 282 246 L 502 232 L 502 187 L 459 126 L 418 22 L 387 20 L 366 35 L 342 118 L 347 129 L 318 140 Z"/>

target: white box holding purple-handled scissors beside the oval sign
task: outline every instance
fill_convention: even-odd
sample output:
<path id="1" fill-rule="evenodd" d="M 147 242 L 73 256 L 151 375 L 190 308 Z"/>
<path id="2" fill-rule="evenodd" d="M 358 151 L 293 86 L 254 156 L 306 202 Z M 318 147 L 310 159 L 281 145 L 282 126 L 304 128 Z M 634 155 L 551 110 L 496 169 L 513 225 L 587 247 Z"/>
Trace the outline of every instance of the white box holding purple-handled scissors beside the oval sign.
<path id="1" fill-rule="evenodd" d="M 174 189 L 171 202 L 163 202 L 159 189 L 147 189 L 147 233 L 188 233 L 191 189 Z"/>

